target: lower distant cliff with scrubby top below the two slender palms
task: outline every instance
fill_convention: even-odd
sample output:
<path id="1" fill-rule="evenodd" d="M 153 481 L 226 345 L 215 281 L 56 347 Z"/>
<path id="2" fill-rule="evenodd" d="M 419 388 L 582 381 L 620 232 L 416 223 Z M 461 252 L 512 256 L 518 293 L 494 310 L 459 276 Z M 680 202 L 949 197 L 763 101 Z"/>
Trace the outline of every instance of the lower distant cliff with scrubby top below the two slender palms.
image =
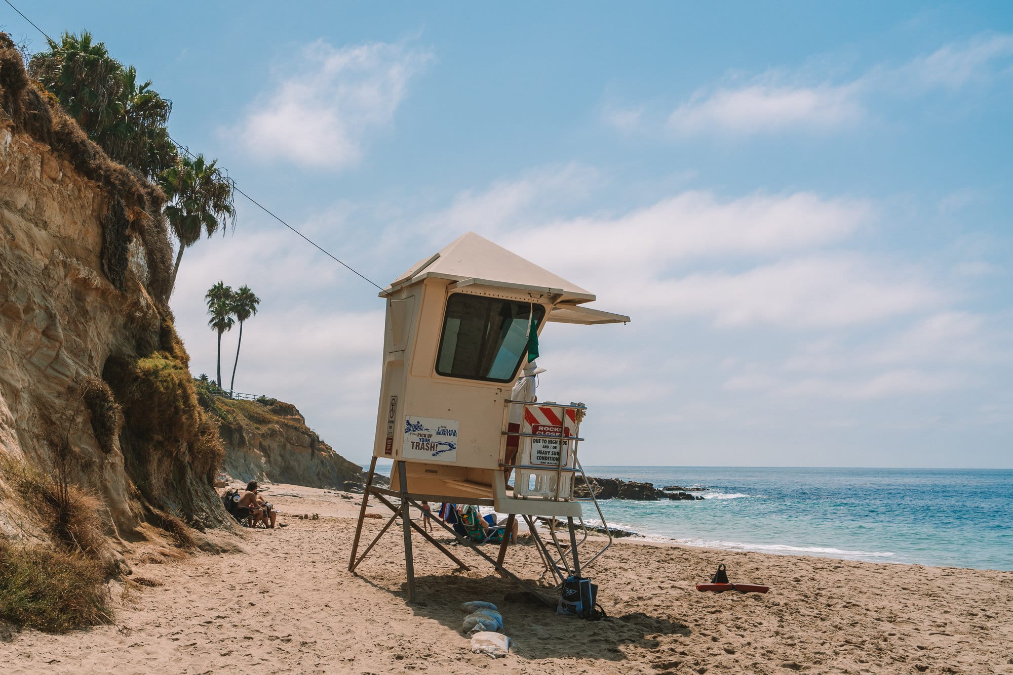
<path id="1" fill-rule="evenodd" d="M 221 417 L 223 467 L 233 480 L 338 490 L 365 483 L 362 467 L 334 452 L 292 404 L 214 401 Z"/>

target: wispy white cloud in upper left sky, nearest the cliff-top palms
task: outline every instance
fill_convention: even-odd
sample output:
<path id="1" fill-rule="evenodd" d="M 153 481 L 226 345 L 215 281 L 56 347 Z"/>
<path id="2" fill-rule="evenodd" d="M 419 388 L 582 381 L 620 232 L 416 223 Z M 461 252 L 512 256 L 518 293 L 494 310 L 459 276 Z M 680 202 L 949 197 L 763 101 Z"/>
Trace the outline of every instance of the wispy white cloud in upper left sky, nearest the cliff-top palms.
<path id="1" fill-rule="evenodd" d="M 432 60 L 405 44 L 334 48 L 322 39 L 301 56 L 233 133 L 260 160 L 332 169 L 360 161 L 365 141 L 390 124 L 409 81 Z"/>

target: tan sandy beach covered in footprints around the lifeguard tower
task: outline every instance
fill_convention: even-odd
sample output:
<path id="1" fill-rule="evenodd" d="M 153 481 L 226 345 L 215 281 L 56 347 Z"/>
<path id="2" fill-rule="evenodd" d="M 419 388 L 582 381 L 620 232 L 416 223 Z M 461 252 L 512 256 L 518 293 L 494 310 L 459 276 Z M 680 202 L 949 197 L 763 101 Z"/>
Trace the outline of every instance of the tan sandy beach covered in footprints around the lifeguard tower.
<path id="1" fill-rule="evenodd" d="M 589 570 L 610 618 L 586 622 L 504 602 L 515 586 L 477 556 L 464 551 L 472 570 L 456 573 L 416 537 L 409 606 L 399 530 L 346 570 L 360 496 L 278 485 L 269 499 L 288 526 L 227 537 L 245 553 L 134 546 L 132 581 L 110 585 L 114 624 L 17 634 L 0 672 L 1013 673 L 1013 572 L 621 541 Z M 383 522 L 368 519 L 367 536 Z M 531 545 L 509 560 L 539 572 Z M 771 592 L 696 591 L 721 562 Z M 477 599 L 499 605 L 505 659 L 469 651 L 459 605 Z"/>

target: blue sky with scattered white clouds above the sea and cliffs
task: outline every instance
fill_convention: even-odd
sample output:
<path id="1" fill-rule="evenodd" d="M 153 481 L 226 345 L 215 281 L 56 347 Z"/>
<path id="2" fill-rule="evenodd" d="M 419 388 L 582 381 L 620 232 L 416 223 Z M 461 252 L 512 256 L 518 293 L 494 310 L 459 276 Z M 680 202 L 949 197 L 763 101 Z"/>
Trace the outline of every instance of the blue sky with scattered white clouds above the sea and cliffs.
<path id="1" fill-rule="evenodd" d="M 380 285 L 471 230 L 629 315 L 542 335 L 587 465 L 1013 467 L 1007 2 L 15 4 Z M 383 301 L 237 207 L 182 258 L 191 370 L 248 284 L 236 391 L 367 460 Z"/>

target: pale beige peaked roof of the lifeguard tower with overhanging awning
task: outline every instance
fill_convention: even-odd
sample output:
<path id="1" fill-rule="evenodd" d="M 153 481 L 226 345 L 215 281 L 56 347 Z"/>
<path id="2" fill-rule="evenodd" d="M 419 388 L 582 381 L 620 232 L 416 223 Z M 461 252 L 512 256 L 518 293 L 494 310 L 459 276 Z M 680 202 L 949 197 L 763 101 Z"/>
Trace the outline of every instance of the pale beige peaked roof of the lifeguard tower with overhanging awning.
<path id="1" fill-rule="evenodd" d="M 434 277 L 455 281 L 458 288 L 482 285 L 548 292 L 556 297 L 556 306 L 548 321 L 572 324 L 629 321 L 627 316 L 576 307 L 594 301 L 595 294 L 474 232 L 466 232 L 439 252 L 413 264 L 382 290 L 380 297 L 386 298 L 400 286 Z"/>

